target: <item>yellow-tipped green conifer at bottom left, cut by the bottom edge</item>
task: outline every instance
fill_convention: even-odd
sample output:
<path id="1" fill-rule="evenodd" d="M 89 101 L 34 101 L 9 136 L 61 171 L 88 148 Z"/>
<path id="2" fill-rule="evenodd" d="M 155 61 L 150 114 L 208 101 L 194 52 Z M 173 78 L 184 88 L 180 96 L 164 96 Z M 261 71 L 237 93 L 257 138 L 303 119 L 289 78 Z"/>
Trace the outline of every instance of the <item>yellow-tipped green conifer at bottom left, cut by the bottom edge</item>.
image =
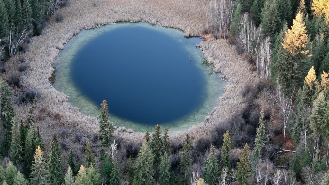
<path id="1" fill-rule="evenodd" d="M 42 150 L 38 146 L 36 154 L 34 155 L 34 162 L 30 173 L 30 183 L 38 185 L 48 185 L 48 170 L 46 169 L 46 163 L 44 162 Z"/>

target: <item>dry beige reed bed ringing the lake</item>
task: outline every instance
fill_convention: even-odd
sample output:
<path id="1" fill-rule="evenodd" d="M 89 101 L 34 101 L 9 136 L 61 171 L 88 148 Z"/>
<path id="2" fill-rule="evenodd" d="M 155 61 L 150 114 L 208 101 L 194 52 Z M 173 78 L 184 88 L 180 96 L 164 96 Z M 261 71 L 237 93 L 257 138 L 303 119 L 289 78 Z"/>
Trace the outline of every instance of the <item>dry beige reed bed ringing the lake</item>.
<path id="1" fill-rule="evenodd" d="M 41 96 L 37 114 L 46 116 L 38 120 L 37 124 L 41 126 L 47 145 L 55 132 L 61 135 L 60 140 L 68 145 L 67 148 L 74 146 L 76 152 L 82 153 L 85 139 L 95 138 L 98 132 L 96 118 L 82 115 L 78 108 L 67 103 L 67 95 L 56 91 L 48 83 L 58 52 L 72 36 L 83 29 L 116 21 L 145 21 L 181 29 L 186 36 L 201 35 L 207 26 L 205 7 L 208 3 L 209 0 L 75 0 L 69 3 L 70 6 L 59 10 L 58 13 L 63 14 L 63 21 L 56 22 L 53 16 L 42 35 L 32 39 L 29 51 L 20 54 L 29 63 L 29 69 L 22 73 L 21 84 L 25 89 L 37 90 Z M 222 72 L 229 83 L 220 98 L 220 105 L 205 118 L 205 123 L 171 134 L 172 141 L 182 141 L 186 133 L 191 134 L 193 141 L 211 137 L 211 130 L 220 120 L 230 119 L 236 111 L 245 107 L 241 104 L 240 95 L 243 87 L 259 79 L 258 75 L 252 72 L 250 64 L 243 60 L 235 47 L 226 40 L 203 42 L 202 50 L 208 62 L 214 64 L 215 71 Z M 17 70 L 18 57 L 16 55 L 8 62 L 9 71 L 6 75 Z M 39 111 L 41 107 L 45 107 L 46 111 Z M 15 108 L 19 119 L 24 119 L 28 108 Z M 61 115 L 59 119 L 54 119 L 56 113 Z M 68 130 L 68 133 L 63 133 L 63 130 Z M 83 135 L 85 139 L 80 141 L 77 135 Z M 118 129 L 116 136 L 120 138 L 121 144 L 139 144 L 143 134 Z M 81 145 L 78 145 L 78 142 Z"/>

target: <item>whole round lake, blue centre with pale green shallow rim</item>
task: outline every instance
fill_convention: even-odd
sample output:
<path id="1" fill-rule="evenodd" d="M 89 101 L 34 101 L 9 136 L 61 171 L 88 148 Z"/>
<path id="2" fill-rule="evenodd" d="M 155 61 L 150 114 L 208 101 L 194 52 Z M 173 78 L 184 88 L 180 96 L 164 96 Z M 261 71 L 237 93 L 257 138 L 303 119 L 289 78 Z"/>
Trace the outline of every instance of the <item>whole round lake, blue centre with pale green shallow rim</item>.
<path id="1" fill-rule="evenodd" d="M 195 47 L 200 41 L 147 23 L 84 30 L 56 59 L 54 86 L 86 115 L 98 117 L 106 99 L 117 126 L 183 130 L 203 121 L 225 86 Z"/>

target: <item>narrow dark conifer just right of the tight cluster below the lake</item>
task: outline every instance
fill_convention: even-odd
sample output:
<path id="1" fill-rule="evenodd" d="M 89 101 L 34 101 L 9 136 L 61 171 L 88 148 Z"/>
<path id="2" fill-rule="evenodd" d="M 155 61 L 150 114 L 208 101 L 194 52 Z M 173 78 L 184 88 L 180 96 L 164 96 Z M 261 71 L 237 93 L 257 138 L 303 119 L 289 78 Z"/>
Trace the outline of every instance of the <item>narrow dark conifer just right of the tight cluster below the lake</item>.
<path id="1" fill-rule="evenodd" d="M 192 164 L 192 157 L 190 152 L 191 152 L 190 135 L 187 134 L 181 152 L 181 161 L 180 161 L 180 169 L 181 169 L 181 173 L 184 174 L 184 181 L 186 181 L 188 170 Z"/>

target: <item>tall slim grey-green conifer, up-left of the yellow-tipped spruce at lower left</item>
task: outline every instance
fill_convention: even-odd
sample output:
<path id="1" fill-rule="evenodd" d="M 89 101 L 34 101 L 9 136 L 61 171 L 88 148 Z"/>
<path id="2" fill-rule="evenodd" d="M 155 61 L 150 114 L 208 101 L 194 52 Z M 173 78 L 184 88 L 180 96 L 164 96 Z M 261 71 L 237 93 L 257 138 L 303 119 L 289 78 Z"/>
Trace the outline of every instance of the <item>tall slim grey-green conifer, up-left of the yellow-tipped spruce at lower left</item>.
<path id="1" fill-rule="evenodd" d="M 13 119 L 12 127 L 12 143 L 10 147 L 10 158 L 13 163 L 18 165 L 22 160 L 22 147 L 20 145 L 20 133 L 16 118 Z"/>

